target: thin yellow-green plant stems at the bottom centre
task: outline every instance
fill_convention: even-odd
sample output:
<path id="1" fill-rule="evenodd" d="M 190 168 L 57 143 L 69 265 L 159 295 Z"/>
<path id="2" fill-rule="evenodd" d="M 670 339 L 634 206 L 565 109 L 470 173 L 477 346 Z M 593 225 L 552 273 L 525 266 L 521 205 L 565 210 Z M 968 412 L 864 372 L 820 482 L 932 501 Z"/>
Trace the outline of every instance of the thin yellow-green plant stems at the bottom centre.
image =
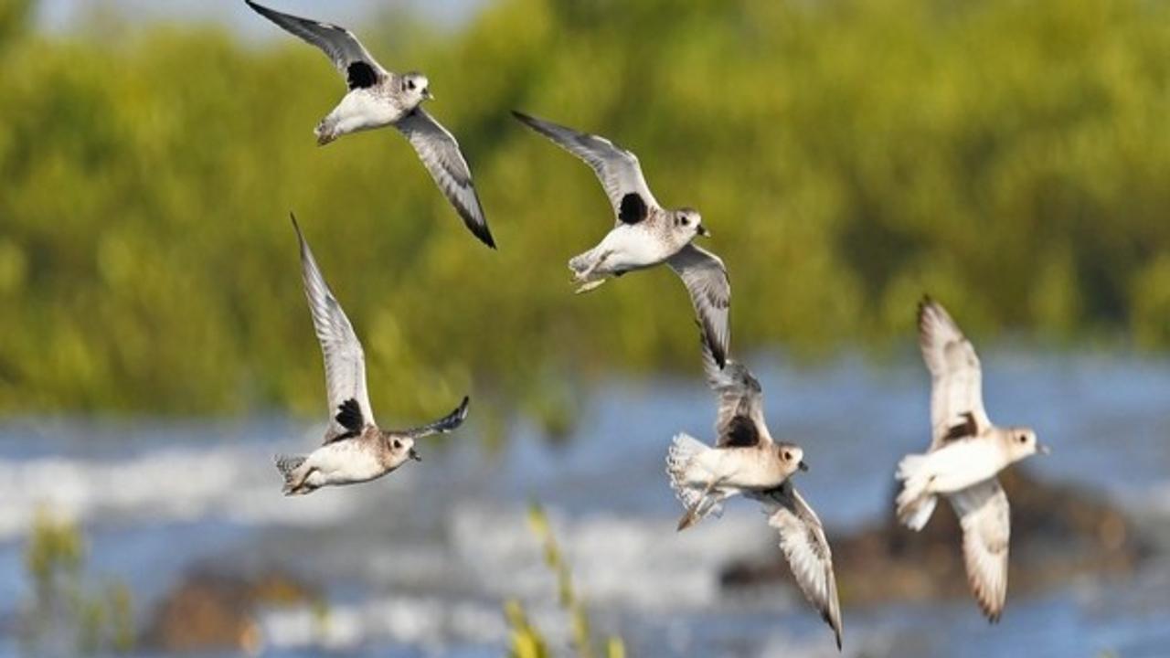
<path id="1" fill-rule="evenodd" d="M 610 636 L 605 640 L 605 652 L 598 653 L 593 647 L 593 636 L 590 630 L 589 612 L 585 604 L 577 596 L 573 588 L 572 570 L 560 554 L 560 546 L 549 526 L 549 516 L 544 508 L 532 503 L 528 510 L 529 526 L 532 534 L 539 540 L 544 548 L 544 562 L 557 576 L 557 592 L 560 608 L 569 615 L 572 625 L 573 652 L 577 658 L 625 658 L 626 645 L 620 637 Z M 504 616 L 511 628 L 509 638 L 508 656 L 510 658 L 548 658 L 555 653 L 550 651 L 544 633 L 532 625 L 524 612 L 524 606 L 515 599 L 504 603 Z"/>

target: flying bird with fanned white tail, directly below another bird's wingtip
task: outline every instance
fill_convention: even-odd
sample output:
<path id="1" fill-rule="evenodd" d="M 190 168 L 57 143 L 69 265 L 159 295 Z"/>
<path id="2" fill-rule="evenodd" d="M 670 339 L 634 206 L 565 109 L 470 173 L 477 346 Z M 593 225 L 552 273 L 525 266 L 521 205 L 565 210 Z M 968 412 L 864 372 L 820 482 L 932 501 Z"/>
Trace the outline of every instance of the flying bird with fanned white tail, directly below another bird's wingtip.
<path id="1" fill-rule="evenodd" d="M 674 437 L 667 451 L 670 487 L 686 512 L 682 532 L 722 503 L 743 494 L 758 501 L 768 525 L 780 535 L 780 550 L 808 602 L 833 630 L 841 649 L 841 604 L 833 575 L 833 555 L 820 519 L 792 485 L 791 475 L 807 471 L 804 450 L 772 438 L 764 420 L 764 395 L 745 365 L 729 359 L 722 369 L 703 342 L 703 369 L 718 396 L 714 447 L 686 433 Z"/>

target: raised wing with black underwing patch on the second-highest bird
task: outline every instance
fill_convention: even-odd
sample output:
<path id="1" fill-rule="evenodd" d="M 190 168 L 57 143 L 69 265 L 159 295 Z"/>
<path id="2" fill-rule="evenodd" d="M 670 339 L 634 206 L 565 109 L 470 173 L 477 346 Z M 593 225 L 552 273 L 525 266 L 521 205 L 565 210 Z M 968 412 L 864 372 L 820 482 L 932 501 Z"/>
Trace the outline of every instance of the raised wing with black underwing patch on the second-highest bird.
<path id="1" fill-rule="evenodd" d="M 515 110 L 512 115 L 593 169 L 610 197 L 618 224 L 638 224 L 646 219 L 649 208 L 661 207 L 646 185 L 638 156 L 605 137 L 578 132 Z"/>

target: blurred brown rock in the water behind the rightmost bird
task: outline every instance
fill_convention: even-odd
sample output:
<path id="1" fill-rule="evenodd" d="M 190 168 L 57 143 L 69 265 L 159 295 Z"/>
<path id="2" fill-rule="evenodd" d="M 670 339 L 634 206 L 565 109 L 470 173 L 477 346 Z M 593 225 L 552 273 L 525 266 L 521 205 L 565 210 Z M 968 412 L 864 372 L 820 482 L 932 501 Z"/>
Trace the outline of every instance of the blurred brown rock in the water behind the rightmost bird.
<path id="1" fill-rule="evenodd" d="M 1021 468 L 1000 473 L 1012 506 L 1009 596 L 1039 592 L 1082 575 L 1128 574 L 1151 544 L 1103 495 L 1083 486 L 1047 484 Z M 894 492 L 896 493 L 896 491 Z M 833 536 L 833 564 L 842 605 L 969 596 L 961 530 L 950 505 L 940 501 L 921 533 L 889 516 L 847 536 Z M 727 588 L 791 581 L 777 550 L 765 561 L 738 561 L 722 573 Z"/>

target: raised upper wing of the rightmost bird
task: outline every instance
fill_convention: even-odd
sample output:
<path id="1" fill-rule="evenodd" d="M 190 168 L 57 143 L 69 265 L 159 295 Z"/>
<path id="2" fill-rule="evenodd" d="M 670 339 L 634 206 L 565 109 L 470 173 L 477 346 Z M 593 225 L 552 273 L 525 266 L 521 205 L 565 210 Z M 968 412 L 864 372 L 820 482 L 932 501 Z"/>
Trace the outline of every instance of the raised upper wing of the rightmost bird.
<path id="1" fill-rule="evenodd" d="M 918 304 L 918 345 L 930 370 L 930 450 L 991 426 L 983 407 L 979 356 L 942 304 Z"/>

